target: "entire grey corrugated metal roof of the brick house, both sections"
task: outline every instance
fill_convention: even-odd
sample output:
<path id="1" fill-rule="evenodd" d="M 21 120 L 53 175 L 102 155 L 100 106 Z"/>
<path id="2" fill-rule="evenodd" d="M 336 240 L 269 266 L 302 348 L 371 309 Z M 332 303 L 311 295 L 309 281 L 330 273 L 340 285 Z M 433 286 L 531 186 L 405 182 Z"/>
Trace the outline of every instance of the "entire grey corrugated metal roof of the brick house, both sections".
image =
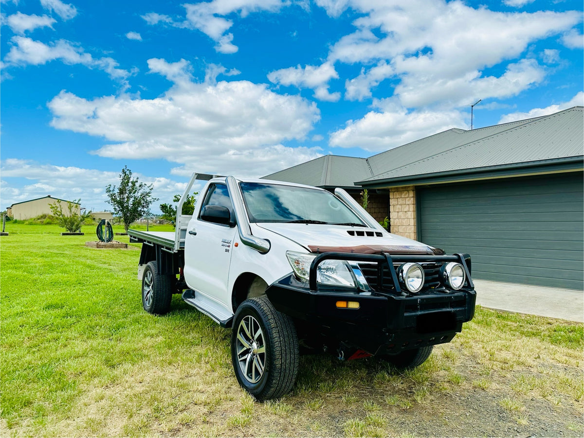
<path id="1" fill-rule="evenodd" d="M 391 187 L 582 169 L 583 107 L 465 131 L 448 129 L 367 159 L 325 155 L 263 178 L 319 187 Z"/>

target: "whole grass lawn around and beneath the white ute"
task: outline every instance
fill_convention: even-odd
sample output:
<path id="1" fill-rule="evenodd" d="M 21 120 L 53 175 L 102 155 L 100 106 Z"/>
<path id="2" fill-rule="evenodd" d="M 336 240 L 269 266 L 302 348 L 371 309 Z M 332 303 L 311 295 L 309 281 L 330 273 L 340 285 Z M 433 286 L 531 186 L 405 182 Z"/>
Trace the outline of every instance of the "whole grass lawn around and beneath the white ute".
<path id="1" fill-rule="evenodd" d="M 304 356 L 293 393 L 260 404 L 235 380 L 231 330 L 180 296 L 165 317 L 142 310 L 139 244 L 85 247 L 95 226 L 6 231 L 1 436 L 584 434 L 582 324 L 478 307 L 416 370 Z"/>

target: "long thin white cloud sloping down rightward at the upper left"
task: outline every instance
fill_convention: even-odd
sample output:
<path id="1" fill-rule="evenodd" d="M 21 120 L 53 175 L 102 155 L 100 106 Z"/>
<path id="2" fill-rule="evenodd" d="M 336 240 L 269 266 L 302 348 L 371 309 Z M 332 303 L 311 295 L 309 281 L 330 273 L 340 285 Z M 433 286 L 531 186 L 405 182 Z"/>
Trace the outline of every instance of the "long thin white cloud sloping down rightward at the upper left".
<path id="1" fill-rule="evenodd" d="M 105 71 L 112 79 L 120 80 L 127 85 L 126 79 L 130 72 L 117 68 L 119 64 L 109 57 L 93 58 L 91 54 L 65 40 L 44 44 L 32 38 L 15 36 L 11 38 L 12 47 L 4 57 L 5 67 L 42 65 L 50 61 L 60 60 L 64 64 L 81 64 L 88 68 L 98 68 Z"/>

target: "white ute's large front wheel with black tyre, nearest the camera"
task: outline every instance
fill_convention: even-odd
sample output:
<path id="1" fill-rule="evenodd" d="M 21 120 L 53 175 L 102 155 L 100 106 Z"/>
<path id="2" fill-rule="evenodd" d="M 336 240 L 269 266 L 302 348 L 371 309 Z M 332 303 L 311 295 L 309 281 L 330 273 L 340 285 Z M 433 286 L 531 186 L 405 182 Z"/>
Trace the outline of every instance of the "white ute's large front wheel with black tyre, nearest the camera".
<path id="1" fill-rule="evenodd" d="M 290 392 L 298 375 L 298 337 L 290 317 L 266 296 L 238 307 L 231 334 L 231 360 L 239 384 L 259 401 Z"/>

